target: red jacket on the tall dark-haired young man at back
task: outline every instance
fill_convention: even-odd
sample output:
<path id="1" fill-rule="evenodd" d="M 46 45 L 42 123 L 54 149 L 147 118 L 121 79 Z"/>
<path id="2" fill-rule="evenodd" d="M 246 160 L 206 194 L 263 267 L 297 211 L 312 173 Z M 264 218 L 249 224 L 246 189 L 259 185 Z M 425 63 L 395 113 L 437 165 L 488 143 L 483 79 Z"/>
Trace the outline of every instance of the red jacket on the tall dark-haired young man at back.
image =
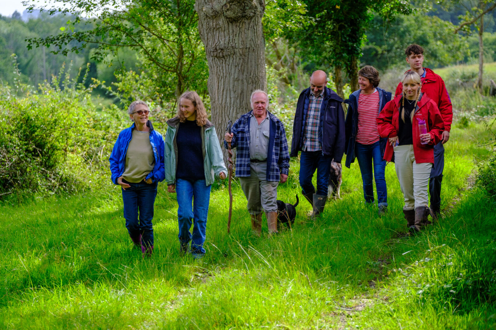
<path id="1" fill-rule="evenodd" d="M 427 94 L 437 105 L 444 122 L 444 130 L 449 132 L 451 130 L 451 122 L 453 121 L 453 107 L 448 91 L 439 75 L 436 75 L 429 68 L 424 69 L 426 69 L 426 76 L 422 78 L 422 92 Z M 401 94 L 403 94 L 403 85 L 399 83 L 394 95 L 398 96 Z"/>

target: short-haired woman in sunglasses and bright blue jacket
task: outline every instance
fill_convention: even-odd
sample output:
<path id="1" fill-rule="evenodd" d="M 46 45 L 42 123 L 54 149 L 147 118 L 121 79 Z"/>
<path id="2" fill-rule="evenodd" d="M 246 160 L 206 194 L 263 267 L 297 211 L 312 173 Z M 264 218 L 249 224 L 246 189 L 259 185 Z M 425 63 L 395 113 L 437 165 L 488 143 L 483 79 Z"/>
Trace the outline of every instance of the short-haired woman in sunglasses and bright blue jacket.
<path id="1" fill-rule="evenodd" d="M 148 120 L 150 109 L 134 101 L 127 109 L 134 122 L 123 130 L 110 155 L 112 183 L 121 186 L 125 227 L 143 256 L 153 252 L 153 204 L 164 180 L 164 140 Z"/>

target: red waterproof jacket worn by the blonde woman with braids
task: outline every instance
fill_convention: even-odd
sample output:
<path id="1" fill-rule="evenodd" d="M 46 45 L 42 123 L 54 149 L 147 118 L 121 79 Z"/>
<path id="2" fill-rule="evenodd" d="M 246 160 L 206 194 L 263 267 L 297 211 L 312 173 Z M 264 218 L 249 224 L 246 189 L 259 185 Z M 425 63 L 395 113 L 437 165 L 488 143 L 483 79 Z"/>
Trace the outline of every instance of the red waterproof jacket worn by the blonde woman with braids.
<path id="1" fill-rule="evenodd" d="M 381 138 L 394 138 L 398 136 L 400 102 L 402 95 L 396 96 L 384 106 L 377 117 L 377 130 Z M 431 141 L 427 144 L 420 142 L 419 125 L 416 118 L 426 121 L 427 132 Z M 412 124 L 413 153 L 417 163 L 434 163 L 434 145 L 441 141 L 444 124 L 441 114 L 434 101 L 426 94 L 421 94 Z M 387 143 L 384 160 L 391 161 L 393 146 Z"/>

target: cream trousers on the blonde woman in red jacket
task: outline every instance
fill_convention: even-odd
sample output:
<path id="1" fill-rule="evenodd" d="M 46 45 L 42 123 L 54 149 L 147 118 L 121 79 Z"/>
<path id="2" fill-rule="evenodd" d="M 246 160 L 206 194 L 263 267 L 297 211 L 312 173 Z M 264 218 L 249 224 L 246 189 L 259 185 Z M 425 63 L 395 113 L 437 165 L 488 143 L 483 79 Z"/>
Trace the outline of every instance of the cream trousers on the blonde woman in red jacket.
<path id="1" fill-rule="evenodd" d="M 394 167 L 405 198 L 403 210 L 429 205 L 427 190 L 433 163 L 417 164 L 413 144 L 397 145 L 394 147 Z"/>

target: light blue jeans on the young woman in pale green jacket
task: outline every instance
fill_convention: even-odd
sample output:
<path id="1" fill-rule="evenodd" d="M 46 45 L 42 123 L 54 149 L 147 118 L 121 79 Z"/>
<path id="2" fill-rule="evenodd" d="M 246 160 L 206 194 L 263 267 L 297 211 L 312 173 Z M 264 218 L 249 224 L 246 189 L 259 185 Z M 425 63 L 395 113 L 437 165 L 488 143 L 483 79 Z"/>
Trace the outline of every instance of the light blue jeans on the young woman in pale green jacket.
<path id="1" fill-rule="evenodd" d="M 186 245 L 191 240 L 191 254 L 193 256 L 205 254 L 203 242 L 205 242 L 207 230 L 208 202 L 210 201 L 211 187 L 211 185 L 205 186 L 205 180 L 176 180 L 179 204 L 179 242 L 181 245 Z M 191 220 L 194 222 L 193 235 L 189 233 Z"/>

